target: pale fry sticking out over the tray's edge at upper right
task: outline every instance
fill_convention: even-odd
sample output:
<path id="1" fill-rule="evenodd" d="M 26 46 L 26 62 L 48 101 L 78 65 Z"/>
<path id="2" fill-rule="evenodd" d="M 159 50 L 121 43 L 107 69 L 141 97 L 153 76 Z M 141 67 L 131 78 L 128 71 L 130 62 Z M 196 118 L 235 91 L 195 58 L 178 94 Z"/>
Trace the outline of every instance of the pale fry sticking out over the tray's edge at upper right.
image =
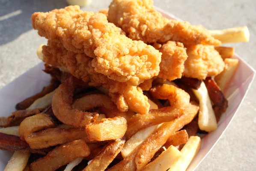
<path id="1" fill-rule="evenodd" d="M 210 34 L 221 43 L 248 42 L 250 32 L 247 26 L 234 27 L 222 30 L 209 30 Z"/>

